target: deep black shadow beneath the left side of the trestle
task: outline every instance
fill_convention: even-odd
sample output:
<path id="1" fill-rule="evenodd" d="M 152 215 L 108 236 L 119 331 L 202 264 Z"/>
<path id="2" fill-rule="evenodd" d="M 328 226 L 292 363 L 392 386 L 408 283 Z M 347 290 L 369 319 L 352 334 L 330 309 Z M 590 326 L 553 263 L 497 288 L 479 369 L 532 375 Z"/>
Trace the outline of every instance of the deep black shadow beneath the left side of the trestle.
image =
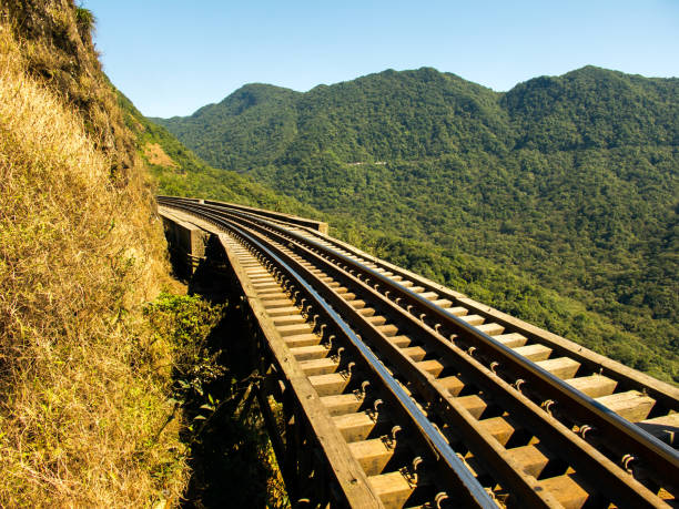
<path id="1" fill-rule="evenodd" d="M 182 439 L 191 447 L 192 472 L 181 506 L 276 507 L 278 503 L 267 493 L 274 474 L 266 462 L 266 430 L 259 411 L 242 411 L 251 403 L 247 389 L 253 373 L 249 352 L 252 340 L 240 309 L 232 304 L 239 299 L 230 295 L 229 278 L 215 271 L 221 263 L 209 255 L 188 282 L 190 294 L 213 304 L 226 304 L 223 318 L 207 338 L 210 353 L 217 356 L 217 365 L 225 373 L 192 388 L 185 400 L 184 420 L 191 428 L 184 430 Z"/>

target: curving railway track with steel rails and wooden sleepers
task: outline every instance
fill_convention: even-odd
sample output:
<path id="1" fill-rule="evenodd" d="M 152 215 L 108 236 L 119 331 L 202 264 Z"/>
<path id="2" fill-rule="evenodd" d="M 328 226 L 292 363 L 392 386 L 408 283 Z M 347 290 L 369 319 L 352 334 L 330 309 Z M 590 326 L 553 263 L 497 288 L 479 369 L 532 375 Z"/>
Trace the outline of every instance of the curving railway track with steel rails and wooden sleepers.
<path id="1" fill-rule="evenodd" d="M 379 503 L 675 505 L 676 388 L 308 227 L 159 203 L 229 233 Z"/>

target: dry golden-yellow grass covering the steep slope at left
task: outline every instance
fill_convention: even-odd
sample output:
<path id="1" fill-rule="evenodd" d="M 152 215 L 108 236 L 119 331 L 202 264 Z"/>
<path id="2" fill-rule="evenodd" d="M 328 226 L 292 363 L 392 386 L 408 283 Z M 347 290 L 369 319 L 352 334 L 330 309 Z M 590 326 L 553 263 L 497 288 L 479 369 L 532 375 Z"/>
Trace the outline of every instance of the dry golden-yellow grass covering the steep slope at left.
<path id="1" fill-rule="evenodd" d="M 0 24 L 0 506 L 176 500 L 169 353 L 140 313 L 165 271 L 151 196 L 24 50 Z"/>

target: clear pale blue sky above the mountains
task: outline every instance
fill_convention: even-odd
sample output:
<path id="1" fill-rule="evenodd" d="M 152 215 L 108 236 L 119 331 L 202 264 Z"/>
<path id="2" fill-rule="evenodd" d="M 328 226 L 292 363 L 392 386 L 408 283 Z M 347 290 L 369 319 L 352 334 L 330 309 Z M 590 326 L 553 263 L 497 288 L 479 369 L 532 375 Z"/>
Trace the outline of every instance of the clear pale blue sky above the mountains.
<path id="1" fill-rule="evenodd" d="M 78 0 L 77 0 L 78 1 Z M 245 83 L 306 91 L 434 67 L 497 91 L 586 64 L 679 77 L 679 0 L 82 0 L 113 83 L 150 116 Z"/>

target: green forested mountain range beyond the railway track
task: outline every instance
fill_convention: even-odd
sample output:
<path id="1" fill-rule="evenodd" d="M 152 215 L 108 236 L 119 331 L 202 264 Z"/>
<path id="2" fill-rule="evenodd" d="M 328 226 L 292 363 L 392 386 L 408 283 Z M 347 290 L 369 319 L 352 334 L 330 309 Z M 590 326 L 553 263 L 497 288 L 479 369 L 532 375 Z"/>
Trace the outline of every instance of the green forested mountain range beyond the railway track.
<path id="1" fill-rule="evenodd" d="M 625 330 L 677 359 L 677 79 L 587 67 L 496 93 L 434 69 L 389 70 L 306 93 L 245 85 L 155 121 L 216 167 L 378 228 L 387 257 L 392 236 L 436 245 L 444 265 L 489 261 L 617 330 L 595 332 L 582 314 L 555 332 L 616 355 Z M 433 275 L 465 285 L 476 277 L 466 268 Z M 529 317 L 521 288 L 507 292 L 503 306 Z M 652 370 L 650 354 L 617 357 Z"/>

